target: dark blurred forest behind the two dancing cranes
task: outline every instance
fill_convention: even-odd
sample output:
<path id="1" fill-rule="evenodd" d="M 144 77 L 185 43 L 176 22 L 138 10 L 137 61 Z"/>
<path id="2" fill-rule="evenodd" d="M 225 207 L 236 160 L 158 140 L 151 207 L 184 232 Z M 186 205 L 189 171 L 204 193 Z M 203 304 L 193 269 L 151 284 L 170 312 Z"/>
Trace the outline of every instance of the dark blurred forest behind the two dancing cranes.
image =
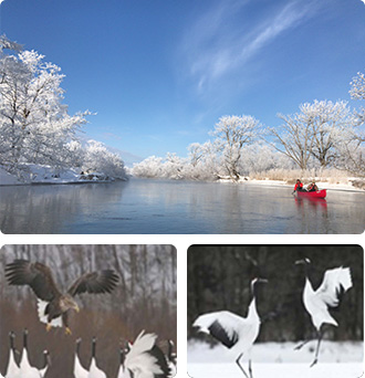
<path id="1" fill-rule="evenodd" d="M 309 258 L 311 280 L 316 290 L 326 270 L 350 266 L 353 287 L 332 314 L 338 327 L 328 326 L 324 338 L 364 339 L 364 252 L 358 245 L 194 245 L 188 250 L 188 338 L 215 344 L 208 335 L 191 327 L 201 314 L 228 309 L 247 316 L 250 281 L 269 280 L 260 285 L 257 301 L 262 326 L 258 342 L 298 342 L 311 338 L 314 328 L 302 303 L 304 271 L 294 265 Z"/>

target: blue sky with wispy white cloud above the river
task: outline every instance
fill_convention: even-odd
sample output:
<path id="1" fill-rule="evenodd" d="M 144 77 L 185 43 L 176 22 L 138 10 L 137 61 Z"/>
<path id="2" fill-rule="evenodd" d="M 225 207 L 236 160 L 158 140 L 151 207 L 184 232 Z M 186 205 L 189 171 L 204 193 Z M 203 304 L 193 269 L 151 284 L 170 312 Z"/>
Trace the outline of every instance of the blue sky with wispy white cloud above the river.
<path id="1" fill-rule="evenodd" d="M 365 71 L 361 0 L 6 0 L 1 33 L 66 75 L 85 137 L 145 158 L 177 153 L 223 115 L 350 101 Z M 351 102 L 352 106 L 359 103 Z"/>

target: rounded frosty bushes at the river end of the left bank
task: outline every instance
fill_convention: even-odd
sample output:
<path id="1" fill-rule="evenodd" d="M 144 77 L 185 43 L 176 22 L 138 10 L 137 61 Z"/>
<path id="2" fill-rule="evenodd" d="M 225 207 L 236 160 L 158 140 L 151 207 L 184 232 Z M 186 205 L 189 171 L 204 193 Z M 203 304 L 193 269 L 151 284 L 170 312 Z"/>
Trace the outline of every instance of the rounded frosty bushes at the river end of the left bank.
<path id="1" fill-rule="evenodd" d="M 119 155 L 111 153 L 101 141 L 88 140 L 83 161 L 85 172 L 98 172 L 124 179 L 126 174 Z"/>

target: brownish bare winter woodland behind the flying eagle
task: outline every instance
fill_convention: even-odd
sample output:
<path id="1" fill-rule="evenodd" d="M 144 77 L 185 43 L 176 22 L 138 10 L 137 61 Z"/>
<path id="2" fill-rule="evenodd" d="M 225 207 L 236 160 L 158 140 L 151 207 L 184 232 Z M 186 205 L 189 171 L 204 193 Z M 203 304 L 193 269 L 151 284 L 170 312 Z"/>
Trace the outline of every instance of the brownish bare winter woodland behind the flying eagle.
<path id="1" fill-rule="evenodd" d="M 0 254 L 0 372 L 9 358 L 9 332 L 22 350 L 22 332 L 29 329 L 33 366 L 43 366 L 43 349 L 52 366 L 46 378 L 72 377 L 75 340 L 82 337 L 81 361 L 88 366 L 92 337 L 97 337 L 97 364 L 107 377 L 116 376 L 121 340 L 134 340 L 142 329 L 158 340 L 176 344 L 176 250 L 170 245 L 7 245 Z M 25 286 L 9 286 L 4 265 L 14 259 L 40 261 L 51 267 L 64 291 L 82 273 L 113 269 L 119 283 L 112 294 L 76 297 L 81 311 L 70 316 L 71 336 L 64 329 L 46 333 L 36 315 L 36 297 Z"/>

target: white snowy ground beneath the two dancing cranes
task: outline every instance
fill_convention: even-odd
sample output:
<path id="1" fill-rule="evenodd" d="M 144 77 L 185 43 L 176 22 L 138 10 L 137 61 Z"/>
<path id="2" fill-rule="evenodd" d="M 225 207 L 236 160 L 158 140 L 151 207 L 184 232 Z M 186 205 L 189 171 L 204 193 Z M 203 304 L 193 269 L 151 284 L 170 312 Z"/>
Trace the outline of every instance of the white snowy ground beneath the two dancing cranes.
<path id="1" fill-rule="evenodd" d="M 363 343 L 323 342 L 320 361 L 310 368 L 315 343 L 294 350 L 293 343 L 255 344 L 252 348 L 254 378 L 357 378 L 364 371 Z M 242 365 L 248 370 L 247 358 Z M 188 344 L 188 374 L 194 378 L 242 378 L 234 358 L 226 348 L 204 343 Z"/>

